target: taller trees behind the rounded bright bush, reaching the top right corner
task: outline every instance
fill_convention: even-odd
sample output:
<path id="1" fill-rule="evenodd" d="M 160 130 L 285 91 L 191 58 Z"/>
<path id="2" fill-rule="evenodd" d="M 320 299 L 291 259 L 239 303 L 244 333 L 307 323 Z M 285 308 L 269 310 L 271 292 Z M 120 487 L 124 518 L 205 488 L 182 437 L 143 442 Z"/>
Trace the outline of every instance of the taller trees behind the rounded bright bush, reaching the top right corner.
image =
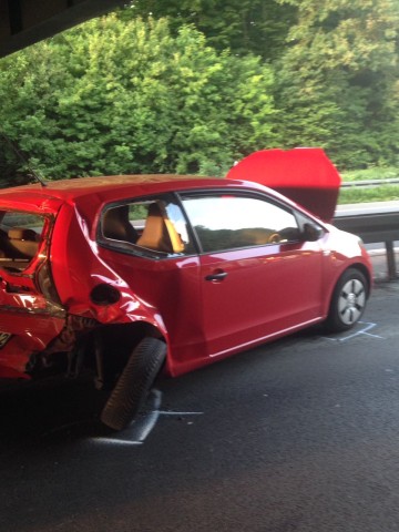
<path id="1" fill-rule="evenodd" d="M 218 50 L 259 54 L 276 72 L 282 146 L 360 167 L 398 162 L 398 12 L 397 0 L 134 0 L 123 17 L 191 22 Z"/>

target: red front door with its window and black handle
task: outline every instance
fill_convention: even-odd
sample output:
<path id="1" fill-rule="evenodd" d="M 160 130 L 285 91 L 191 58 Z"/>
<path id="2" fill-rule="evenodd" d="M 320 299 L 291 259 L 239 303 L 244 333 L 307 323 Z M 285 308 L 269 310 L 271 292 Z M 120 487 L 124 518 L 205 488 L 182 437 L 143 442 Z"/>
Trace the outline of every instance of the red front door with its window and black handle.
<path id="1" fill-rule="evenodd" d="M 320 316 L 323 252 L 304 242 L 296 212 L 266 195 L 190 194 L 201 248 L 207 355 L 288 334 Z"/>

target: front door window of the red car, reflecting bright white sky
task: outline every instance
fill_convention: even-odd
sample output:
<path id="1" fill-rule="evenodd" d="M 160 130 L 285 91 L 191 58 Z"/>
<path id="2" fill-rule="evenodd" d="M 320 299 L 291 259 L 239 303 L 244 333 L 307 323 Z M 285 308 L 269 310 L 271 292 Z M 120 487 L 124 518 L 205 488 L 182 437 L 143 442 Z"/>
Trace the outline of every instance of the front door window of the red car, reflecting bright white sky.
<path id="1" fill-rule="evenodd" d="M 299 238 L 291 212 L 266 200 L 221 194 L 185 197 L 183 205 L 204 252 Z"/>

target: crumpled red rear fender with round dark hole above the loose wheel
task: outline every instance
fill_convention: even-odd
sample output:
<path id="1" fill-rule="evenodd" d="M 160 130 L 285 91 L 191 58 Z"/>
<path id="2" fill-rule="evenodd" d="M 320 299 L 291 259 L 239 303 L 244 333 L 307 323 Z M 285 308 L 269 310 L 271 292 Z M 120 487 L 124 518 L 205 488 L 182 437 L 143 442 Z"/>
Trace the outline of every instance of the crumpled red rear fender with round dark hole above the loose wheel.
<path id="1" fill-rule="evenodd" d="M 135 295 L 123 278 L 99 256 L 93 227 L 75 205 L 64 205 L 53 229 L 52 275 L 62 306 L 69 315 L 99 325 L 144 321 L 167 339 L 164 321 L 149 303 Z M 99 301 L 96 290 L 105 298 Z"/>

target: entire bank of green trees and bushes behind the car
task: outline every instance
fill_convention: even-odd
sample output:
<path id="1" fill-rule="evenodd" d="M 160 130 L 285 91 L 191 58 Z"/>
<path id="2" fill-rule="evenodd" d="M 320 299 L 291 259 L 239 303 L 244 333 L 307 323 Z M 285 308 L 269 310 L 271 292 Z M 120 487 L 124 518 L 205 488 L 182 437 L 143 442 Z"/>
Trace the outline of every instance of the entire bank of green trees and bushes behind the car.
<path id="1" fill-rule="evenodd" d="M 0 124 L 54 178 L 223 175 L 274 146 L 395 165 L 398 28 L 398 0 L 134 0 L 1 60 Z"/>

